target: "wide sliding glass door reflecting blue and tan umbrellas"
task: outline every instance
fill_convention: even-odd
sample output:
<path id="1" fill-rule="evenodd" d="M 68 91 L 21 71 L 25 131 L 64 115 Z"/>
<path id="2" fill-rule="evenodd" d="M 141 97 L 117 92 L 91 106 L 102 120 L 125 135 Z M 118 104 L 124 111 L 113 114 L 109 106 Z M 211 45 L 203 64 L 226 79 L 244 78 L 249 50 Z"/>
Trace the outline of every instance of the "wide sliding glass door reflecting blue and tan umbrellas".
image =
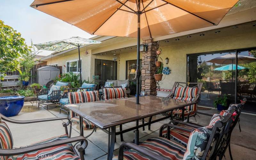
<path id="1" fill-rule="evenodd" d="M 219 96 L 226 96 L 228 104 L 246 97 L 249 106 L 244 110 L 256 113 L 255 57 L 252 49 L 188 54 L 187 82 L 204 83 L 198 104 L 215 107 Z"/>

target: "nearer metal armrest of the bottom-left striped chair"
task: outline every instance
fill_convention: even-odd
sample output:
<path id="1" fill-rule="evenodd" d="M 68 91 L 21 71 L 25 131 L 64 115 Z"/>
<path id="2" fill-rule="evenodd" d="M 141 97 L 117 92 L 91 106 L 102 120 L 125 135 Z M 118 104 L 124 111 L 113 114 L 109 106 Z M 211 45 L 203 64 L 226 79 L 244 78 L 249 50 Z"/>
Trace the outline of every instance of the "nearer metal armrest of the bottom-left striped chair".
<path id="1" fill-rule="evenodd" d="M 63 144 L 69 144 L 69 143 L 73 143 L 73 142 L 79 142 L 79 141 L 84 141 L 83 148 L 85 149 L 88 145 L 87 140 L 83 136 L 78 136 L 78 137 L 68 138 L 68 139 L 64 139 L 64 140 L 57 140 L 57 141 L 43 143 L 43 144 L 29 146 L 29 147 L 22 147 L 22 148 L 15 148 L 15 149 L 0 149 L 0 155 L 1 156 L 20 155 L 20 154 L 24 154 L 24 153 L 38 151 L 38 150 L 45 149 L 45 148 L 51 148 L 51 147 L 60 146 Z M 76 148 L 79 148 L 78 146 L 82 147 L 80 145 L 77 145 Z"/>

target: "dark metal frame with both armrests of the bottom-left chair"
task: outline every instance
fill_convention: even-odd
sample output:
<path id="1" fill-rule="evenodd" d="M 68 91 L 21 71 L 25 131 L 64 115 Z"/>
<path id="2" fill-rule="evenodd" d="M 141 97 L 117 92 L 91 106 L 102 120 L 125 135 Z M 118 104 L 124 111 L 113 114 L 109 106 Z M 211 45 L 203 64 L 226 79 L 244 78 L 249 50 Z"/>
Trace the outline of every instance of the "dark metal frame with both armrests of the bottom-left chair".
<path id="1" fill-rule="evenodd" d="M 15 123 L 15 124 L 31 124 L 31 123 L 39 123 L 39 122 L 67 120 L 68 121 L 67 123 L 65 123 L 65 122 L 62 123 L 66 134 L 68 134 L 67 126 L 69 124 L 71 124 L 68 117 L 56 117 L 56 118 L 19 121 L 19 120 L 10 119 L 2 114 L 0 114 L 0 116 L 1 116 L 2 120 L 5 120 L 10 123 Z M 38 150 L 45 149 L 45 148 L 51 148 L 51 147 L 60 146 L 63 144 L 70 144 L 70 143 L 76 142 L 76 144 L 74 146 L 72 145 L 73 151 L 78 156 L 78 154 L 74 148 L 74 147 L 76 147 L 76 149 L 79 152 L 80 158 L 82 160 L 84 160 L 84 150 L 88 145 L 88 141 L 83 136 L 70 138 L 71 130 L 72 130 L 72 127 L 70 125 L 70 134 L 69 134 L 68 139 L 58 140 L 58 141 L 43 143 L 43 144 L 39 144 L 39 145 L 28 146 L 28 147 L 15 148 L 15 149 L 0 149 L 0 156 L 15 156 L 15 155 L 20 155 L 20 154 L 24 154 L 24 153 L 33 152 L 33 151 L 38 151 Z M 81 144 L 78 144 L 79 142 L 81 142 Z"/>

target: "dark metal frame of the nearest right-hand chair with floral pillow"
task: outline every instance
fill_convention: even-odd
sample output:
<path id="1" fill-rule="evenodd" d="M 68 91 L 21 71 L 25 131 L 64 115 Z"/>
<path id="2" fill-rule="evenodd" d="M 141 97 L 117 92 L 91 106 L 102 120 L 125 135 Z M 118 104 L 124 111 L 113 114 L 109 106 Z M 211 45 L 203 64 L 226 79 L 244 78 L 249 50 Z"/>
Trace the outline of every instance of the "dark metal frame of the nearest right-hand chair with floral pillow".
<path id="1" fill-rule="evenodd" d="M 207 143 L 207 146 L 204 150 L 204 154 L 203 154 L 203 157 L 202 159 L 206 159 L 207 157 L 207 154 L 208 154 L 208 151 L 212 145 L 212 141 L 214 138 L 216 138 L 216 131 L 217 129 L 219 128 L 222 128 L 223 127 L 223 130 L 221 130 L 220 132 L 220 136 L 218 136 L 217 140 L 216 140 L 216 145 L 215 145 L 215 148 L 213 148 L 212 150 L 212 157 L 210 157 L 210 159 L 216 159 L 216 156 L 217 156 L 217 153 L 219 153 L 219 150 L 220 148 L 223 146 L 223 142 L 225 142 L 225 138 L 229 135 L 229 130 L 230 130 L 230 125 L 231 125 L 231 122 L 233 121 L 232 120 L 232 114 L 235 110 L 232 110 L 231 111 L 231 114 L 228 114 L 227 116 L 225 116 L 225 118 L 223 118 L 222 120 L 220 121 L 217 121 L 212 129 L 212 134 L 208 140 L 208 143 Z M 182 122 L 182 123 L 185 123 L 185 122 Z M 186 123 L 188 125 L 192 125 L 192 124 L 189 124 L 189 123 Z M 167 137 L 167 139 L 170 140 L 170 128 L 173 127 L 173 128 L 178 128 L 178 129 L 181 129 L 181 130 L 184 130 L 184 131 L 193 131 L 193 130 L 189 130 L 189 129 L 186 129 L 186 128 L 183 128 L 183 127 L 180 127 L 180 126 L 177 126 L 177 125 L 174 125 L 174 124 L 164 124 L 160 127 L 159 129 L 159 137 L 163 137 L 163 130 L 164 128 L 167 127 L 167 135 L 169 135 Z M 148 149 L 145 149 L 145 148 L 142 148 L 138 145 L 135 145 L 131 142 L 125 142 L 123 144 L 120 145 L 119 149 L 118 149 L 118 160 L 123 160 L 124 158 L 124 148 L 132 148 L 136 151 L 138 151 L 139 153 L 143 154 L 143 155 L 146 155 L 148 156 L 150 159 L 154 159 L 154 160 L 166 160 L 165 157 L 162 157 L 154 152 L 152 152 L 151 150 L 148 150 Z"/>

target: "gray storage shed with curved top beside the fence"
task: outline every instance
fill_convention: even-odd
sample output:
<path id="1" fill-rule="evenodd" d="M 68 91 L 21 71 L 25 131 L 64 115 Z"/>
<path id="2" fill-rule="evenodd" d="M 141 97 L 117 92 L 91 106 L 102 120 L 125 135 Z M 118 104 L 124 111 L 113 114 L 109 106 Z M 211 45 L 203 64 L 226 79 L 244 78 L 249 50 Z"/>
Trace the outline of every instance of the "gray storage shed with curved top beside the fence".
<path id="1" fill-rule="evenodd" d="M 37 83 L 40 85 L 46 85 L 47 82 L 55 80 L 60 75 L 60 69 L 51 66 L 38 68 L 36 72 Z"/>

